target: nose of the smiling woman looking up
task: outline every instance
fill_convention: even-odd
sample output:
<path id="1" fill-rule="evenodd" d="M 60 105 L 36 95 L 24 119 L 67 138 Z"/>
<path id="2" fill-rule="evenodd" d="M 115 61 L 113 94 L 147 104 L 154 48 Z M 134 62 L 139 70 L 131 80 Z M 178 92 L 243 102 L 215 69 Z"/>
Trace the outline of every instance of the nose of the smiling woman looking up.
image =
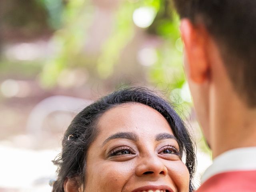
<path id="1" fill-rule="evenodd" d="M 167 168 L 157 155 L 140 157 L 135 174 L 137 176 L 160 176 L 167 174 Z"/>

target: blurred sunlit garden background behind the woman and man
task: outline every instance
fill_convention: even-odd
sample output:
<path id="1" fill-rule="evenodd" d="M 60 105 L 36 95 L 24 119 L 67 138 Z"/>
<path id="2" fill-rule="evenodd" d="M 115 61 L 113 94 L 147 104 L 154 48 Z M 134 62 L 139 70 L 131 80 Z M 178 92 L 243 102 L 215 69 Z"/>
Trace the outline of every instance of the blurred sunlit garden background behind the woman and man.
<path id="1" fill-rule="evenodd" d="M 0 192 L 51 191 L 64 131 L 120 86 L 163 90 L 211 163 L 170 0 L 0 0 Z"/>

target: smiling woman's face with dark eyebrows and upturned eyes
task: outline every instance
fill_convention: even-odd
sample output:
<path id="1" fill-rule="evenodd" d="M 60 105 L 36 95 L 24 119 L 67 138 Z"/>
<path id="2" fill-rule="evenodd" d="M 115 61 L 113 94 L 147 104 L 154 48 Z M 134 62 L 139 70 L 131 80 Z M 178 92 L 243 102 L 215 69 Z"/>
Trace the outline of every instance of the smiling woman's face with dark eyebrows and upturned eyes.
<path id="1" fill-rule="evenodd" d="M 105 112 L 87 154 L 86 192 L 188 192 L 189 173 L 166 119 L 143 104 Z"/>

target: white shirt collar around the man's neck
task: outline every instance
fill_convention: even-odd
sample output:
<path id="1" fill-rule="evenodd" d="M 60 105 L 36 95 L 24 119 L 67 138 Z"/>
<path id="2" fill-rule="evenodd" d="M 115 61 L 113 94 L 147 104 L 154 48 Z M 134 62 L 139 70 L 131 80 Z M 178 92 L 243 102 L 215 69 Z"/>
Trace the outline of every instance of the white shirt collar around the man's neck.
<path id="1" fill-rule="evenodd" d="M 217 156 L 202 176 L 202 183 L 208 178 L 229 171 L 256 170 L 256 147 L 236 148 Z"/>

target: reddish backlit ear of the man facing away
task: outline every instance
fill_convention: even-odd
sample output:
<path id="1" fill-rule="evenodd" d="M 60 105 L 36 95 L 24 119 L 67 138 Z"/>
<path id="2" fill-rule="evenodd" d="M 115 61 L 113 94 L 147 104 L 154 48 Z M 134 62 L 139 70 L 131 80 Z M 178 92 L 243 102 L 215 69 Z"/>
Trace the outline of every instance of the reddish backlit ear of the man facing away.
<path id="1" fill-rule="evenodd" d="M 181 20 L 180 31 L 187 59 L 187 76 L 195 83 L 203 83 L 209 78 L 208 34 L 203 26 L 194 26 L 188 19 Z"/>

